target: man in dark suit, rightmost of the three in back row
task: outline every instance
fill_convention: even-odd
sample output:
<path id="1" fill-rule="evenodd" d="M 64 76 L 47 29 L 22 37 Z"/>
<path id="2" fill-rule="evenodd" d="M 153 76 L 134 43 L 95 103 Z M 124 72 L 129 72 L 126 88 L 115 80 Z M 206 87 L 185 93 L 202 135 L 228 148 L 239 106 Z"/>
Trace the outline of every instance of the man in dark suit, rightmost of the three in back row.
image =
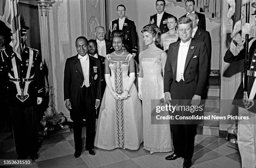
<path id="1" fill-rule="evenodd" d="M 195 11 L 195 0 L 186 0 L 185 2 L 187 13 L 182 17 L 187 17 L 191 13 L 196 13 L 199 19 L 198 27 L 202 30 L 206 30 L 205 15 Z"/>

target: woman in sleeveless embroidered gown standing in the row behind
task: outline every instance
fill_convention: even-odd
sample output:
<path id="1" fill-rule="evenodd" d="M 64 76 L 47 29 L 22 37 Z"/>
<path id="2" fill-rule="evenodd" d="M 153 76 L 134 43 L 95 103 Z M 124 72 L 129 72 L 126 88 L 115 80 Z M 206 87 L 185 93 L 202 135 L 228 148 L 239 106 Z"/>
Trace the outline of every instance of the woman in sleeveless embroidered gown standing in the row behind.
<path id="1" fill-rule="evenodd" d="M 177 18 L 175 16 L 167 17 L 168 32 L 161 35 L 161 47 L 164 47 L 164 51 L 169 48 L 169 45 L 173 42 L 177 42 L 179 35 L 176 30 Z"/>

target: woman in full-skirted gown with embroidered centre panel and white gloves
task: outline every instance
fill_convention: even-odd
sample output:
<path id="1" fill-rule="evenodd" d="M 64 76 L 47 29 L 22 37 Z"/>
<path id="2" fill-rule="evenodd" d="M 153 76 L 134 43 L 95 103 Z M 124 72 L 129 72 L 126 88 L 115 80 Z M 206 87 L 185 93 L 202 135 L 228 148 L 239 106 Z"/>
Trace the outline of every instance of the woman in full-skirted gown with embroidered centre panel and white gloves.
<path id="1" fill-rule="evenodd" d="M 143 142 L 143 119 L 141 101 L 133 84 L 134 59 L 122 49 L 125 40 L 122 30 L 114 30 L 110 37 L 115 51 L 105 59 L 108 87 L 100 107 L 94 145 L 107 150 L 137 150 Z"/>

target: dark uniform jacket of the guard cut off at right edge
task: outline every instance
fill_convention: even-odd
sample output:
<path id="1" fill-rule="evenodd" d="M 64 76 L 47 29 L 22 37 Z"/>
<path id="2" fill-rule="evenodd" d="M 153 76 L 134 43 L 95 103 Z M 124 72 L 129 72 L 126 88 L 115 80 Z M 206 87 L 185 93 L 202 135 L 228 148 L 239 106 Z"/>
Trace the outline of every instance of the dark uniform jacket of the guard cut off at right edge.
<path id="1" fill-rule="evenodd" d="M 242 107 L 248 111 L 256 113 L 256 38 L 252 38 L 249 40 L 249 53 L 248 53 L 248 64 L 249 69 L 247 70 L 248 75 L 248 99 L 250 102 L 247 107 L 243 104 L 243 81 L 241 82 L 236 95 L 233 100 L 233 105 Z M 234 56 L 230 49 L 228 49 L 225 53 L 224 61 L 228 63 L 232 63 L 235 61 L 239 61 L 241 59 L 245 59 L 244 49 L 241 52 Z"/>

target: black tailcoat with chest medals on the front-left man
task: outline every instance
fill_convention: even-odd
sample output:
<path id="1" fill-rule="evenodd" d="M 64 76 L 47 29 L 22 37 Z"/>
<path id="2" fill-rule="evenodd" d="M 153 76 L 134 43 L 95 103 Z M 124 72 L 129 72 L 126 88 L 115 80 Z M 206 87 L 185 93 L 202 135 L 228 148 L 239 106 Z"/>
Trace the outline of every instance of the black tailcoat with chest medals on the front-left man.
<path id="1" fill-rule="evenodd" d="M 100 91 L 101 91 L 101 66 L 100 61 L 97 58 L 89 56 L 89 80 L 90 86 L 95 88 L 95 99 L 100 100 Z M 97 67 L 97 68 L 95 68 Z M 97 70 L 96 70 L 97 69 Z M 77 87 L 82 86 L 84 82 L 84 75 L 80 60 L 78 59 L 78 54 L 76 56 L 70 57 L 67 59 L 64 69 L 64 100 L 77 97 L 77 93 L 72 91 L 72 85 Z M 85 86 L 84 86 L 85 87 Z M 93 94 L 95 94 L 93 93 Z"/>

